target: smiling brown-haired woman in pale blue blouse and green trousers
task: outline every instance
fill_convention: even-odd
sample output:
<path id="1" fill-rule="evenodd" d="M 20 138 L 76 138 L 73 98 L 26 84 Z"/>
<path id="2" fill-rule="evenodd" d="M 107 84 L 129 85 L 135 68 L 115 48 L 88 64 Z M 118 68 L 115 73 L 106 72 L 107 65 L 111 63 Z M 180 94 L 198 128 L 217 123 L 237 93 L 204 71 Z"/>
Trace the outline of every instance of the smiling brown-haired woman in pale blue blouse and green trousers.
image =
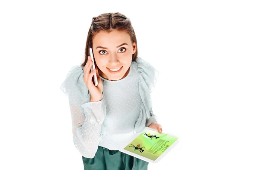
<path id="1" fill-rule="evenodd" d="M 93 50 L 96 72 L 90 72 Z M 93 17 L 85 61 L 71 68 L 61 89 L 69 98 L 73 142 L 84 169 L 147 170 L 148 162 L 119 151 L 119 145 L 145 126 L 157 129 L 151 91 L 158 71 L 137 56 L 130 20 L 120 13 Z M 97 75 L 98 85 L 92 82 Z M 103 88 L 104 87 L 104 88 Z"/>

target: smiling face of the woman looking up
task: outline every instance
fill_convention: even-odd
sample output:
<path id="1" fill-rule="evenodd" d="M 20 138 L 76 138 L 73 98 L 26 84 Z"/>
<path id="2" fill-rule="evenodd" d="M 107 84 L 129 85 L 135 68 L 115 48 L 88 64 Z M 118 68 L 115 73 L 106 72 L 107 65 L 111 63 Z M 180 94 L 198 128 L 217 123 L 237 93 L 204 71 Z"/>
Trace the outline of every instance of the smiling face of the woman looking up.
<path id="1" fill-rule="evenodd" d="M 132 44 L 125 31 L 100 31 L 93 38 L 92 49 L 99 75 L 108 80 L 119 80 L 129 73 L 136 44 Z M 111 71 L 109 68 L 120 69 Z"/>

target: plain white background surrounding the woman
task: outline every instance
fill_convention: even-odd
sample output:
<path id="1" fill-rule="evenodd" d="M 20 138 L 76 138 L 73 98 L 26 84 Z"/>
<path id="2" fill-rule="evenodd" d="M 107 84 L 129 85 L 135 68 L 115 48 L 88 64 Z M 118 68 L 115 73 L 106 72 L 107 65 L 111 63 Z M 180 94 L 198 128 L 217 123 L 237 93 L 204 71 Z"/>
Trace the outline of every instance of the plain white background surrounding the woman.
<path id="1" fill-rule="evenodd" d="M 163 132 L 180 142 L 148 170 L 256 169 L 256 11 L 248 0 L 0 3 L 0 169 L 82 170 L 61 82 L 84 61 L 92 17 L 131 19 L 160 72 Z"/>

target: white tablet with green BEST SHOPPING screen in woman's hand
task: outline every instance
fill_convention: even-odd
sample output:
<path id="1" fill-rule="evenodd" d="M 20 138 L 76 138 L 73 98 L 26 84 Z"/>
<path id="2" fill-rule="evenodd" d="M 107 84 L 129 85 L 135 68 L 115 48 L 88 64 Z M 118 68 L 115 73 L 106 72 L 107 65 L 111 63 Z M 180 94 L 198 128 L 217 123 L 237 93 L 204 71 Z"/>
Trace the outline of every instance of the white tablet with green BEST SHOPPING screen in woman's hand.
<path id="1" fill-rule="evenodd" d="M 119 151 L 147 162 L 157 163 L 178 143 L 178 137 L 171 133 L 145 127 L 140 133 L 120 145 Z"/>

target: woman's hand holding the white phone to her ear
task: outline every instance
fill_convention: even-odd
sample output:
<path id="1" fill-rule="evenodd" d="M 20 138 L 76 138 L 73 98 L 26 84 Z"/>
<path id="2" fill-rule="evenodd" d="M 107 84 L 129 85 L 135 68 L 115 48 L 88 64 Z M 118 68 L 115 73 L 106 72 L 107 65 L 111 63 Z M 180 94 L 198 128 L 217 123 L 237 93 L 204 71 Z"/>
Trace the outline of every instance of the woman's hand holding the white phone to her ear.
<path id="1" fill-rule="evenodd" d="M 103 92 L 103 83 L 99 76 L 98 68 L 95 65 L 95 70 L 90 73 L 90 69 L 93 66 L 93 61 L 90 56 L 88 56 L 88 60 L 84 66 L 84 83 L 90 91 L 91 99 L 90 102 L 99 102 L 102 100 L 102 92 Z M 96 71 L 98 85 L 95 86 L 93 84 L 93 75 Z"/>

